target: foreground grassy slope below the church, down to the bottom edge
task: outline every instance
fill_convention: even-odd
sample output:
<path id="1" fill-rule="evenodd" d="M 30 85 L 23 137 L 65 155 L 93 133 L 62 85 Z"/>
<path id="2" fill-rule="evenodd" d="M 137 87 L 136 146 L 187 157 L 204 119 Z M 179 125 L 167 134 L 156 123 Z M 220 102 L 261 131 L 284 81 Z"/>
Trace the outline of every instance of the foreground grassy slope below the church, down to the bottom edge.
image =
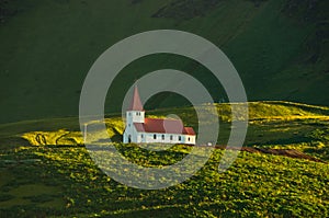
<path id="1" fill-rule="evenodd" d="M 141 159 L 137 147 L 122 149 L 137 163 Z M 184 147 L 178 147 L 166 158 L 172 161 L 184 151 Z M 328 164 L 241 152 L 228 171 L 218 173 L 222 154 L 223 151 L 216 150 L 208 163 L 182 184 L 141 191 L 104 175 L 84 148 L 22 147 L 1 156 L 1 173 L 7 175 L 0 187 L 0 213 L 26 217 L 36 214 L 79 217 L 329 215 Z M 166 164 L 163 158 L 148 156 L 148 161 Z M 5 163 L 3 159 L 16 162 Z M 24 159 L 39 161 L 19 162 Z M 32 191 L 33 186 L 38 188 Z"/>

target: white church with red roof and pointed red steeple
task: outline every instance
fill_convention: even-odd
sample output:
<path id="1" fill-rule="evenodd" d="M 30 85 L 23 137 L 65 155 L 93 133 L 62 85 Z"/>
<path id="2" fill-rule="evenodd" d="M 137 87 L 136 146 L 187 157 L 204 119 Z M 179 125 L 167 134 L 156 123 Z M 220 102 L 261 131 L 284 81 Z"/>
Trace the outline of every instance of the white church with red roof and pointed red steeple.
<path id="1" fill-rule="evenodd" d="M 137 87 L 126 112 L 124 144 L 186 144 L 195 145 L 195 131 L 180 119 L 145 118 Z"/>

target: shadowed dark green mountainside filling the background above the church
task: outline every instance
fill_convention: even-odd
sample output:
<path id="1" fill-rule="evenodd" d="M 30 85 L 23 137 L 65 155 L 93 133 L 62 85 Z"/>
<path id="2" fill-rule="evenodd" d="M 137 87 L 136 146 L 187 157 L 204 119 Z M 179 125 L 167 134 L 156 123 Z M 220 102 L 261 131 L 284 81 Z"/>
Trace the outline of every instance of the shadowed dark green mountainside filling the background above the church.
<path id="1" fill-rule="evenodd" d="M 0 123 L 77 115 L 94 60 L 127 36 L 159 28 L 195 33 L 219 46 L 250 101 L 328 105 L 327 9 L 326 0 L 1 0 Z M 118 112 L 132 83 L 162 68 L 196 77 L 215 101 L 226 96 L 202 66 L 159 55 L 121 72 L 106 111 Z M 158 96 L 149 108 L 179 102 Z"/>

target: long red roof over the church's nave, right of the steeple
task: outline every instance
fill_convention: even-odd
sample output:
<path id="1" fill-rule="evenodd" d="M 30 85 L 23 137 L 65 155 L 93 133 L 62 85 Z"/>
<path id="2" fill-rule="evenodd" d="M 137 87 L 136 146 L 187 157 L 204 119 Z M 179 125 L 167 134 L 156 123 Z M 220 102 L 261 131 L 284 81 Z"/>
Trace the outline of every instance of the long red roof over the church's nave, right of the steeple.
<path id="1" fill-rule="evenodd" d="M 159 134 L 195 135 L 192 127 L 184 127 L 180 119 L 145 118 L 145 123 L 134 123 L 137 131 Z"/>

